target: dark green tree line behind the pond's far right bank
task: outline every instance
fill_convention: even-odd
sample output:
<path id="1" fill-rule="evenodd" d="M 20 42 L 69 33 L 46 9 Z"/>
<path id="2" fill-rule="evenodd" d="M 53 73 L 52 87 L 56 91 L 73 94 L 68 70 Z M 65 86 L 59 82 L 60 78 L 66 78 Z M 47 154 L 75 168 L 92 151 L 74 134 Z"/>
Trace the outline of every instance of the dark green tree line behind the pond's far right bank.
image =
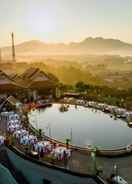
<path id="1" fill-rule="evenodd" d="M 98 86 L 78 81 L 74 85 L 60 83 L 59 89 L 64 92 L 80 93 L 82 98 L 132 110 L 132 88 L 116 89 L 109 86 Z"/>

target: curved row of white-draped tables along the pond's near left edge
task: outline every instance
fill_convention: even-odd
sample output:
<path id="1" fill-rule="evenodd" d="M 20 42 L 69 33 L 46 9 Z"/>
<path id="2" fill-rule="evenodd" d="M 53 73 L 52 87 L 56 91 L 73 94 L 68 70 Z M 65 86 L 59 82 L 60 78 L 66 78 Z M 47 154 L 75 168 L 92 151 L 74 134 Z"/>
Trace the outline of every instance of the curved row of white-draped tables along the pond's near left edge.
<path id="1" fill-rule="evenodd" d="M 52 141 L 38 140 L 36 135 L 29 133 L 22 123 L 20 115 L 17 113 L 9 114 L 7 118 L 7 131 L 13 135 L 18 144 L 28 147 L 31 151 L 35 151 L 40 157 L 51 154 L 57 160 L 70 158 L 71 150 L 66 147 L 59 146 Z"/>

